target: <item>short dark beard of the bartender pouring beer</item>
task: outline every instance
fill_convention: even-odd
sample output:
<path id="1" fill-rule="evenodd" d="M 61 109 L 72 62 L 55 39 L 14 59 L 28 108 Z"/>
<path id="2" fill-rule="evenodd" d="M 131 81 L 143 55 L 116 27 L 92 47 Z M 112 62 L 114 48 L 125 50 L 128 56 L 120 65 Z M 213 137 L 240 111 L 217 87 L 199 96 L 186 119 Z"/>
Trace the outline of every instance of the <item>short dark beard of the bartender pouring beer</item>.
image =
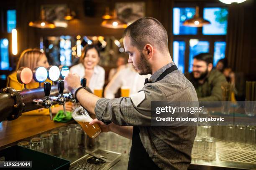
<path id="1" fill-rule="evenodd" d="M 152 74 L 151 64 L 146 59 L 145 55 L 141 52 L 140 62 L 137 65 L 139 75 Z"/>

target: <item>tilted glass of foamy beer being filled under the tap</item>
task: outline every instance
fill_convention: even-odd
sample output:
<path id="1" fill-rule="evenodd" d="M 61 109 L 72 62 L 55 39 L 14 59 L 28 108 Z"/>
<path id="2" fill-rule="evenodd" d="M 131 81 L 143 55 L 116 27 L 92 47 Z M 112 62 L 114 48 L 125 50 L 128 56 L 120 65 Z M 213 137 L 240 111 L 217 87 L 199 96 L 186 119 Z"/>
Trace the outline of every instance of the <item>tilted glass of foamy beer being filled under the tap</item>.
<path id="1" fill-rule="evenodd" d="M 101 129 L 97 123 L 94 125 L 89 125 L 89 122 L 92 121 L 92 118 L 89 116 L 84 107 L 77 107 L 77 109 L 72 113 L 72 117 L 82 126 L 84 132 L 90 138 L 96 138 L 98 135 L 100 135 Z"/>

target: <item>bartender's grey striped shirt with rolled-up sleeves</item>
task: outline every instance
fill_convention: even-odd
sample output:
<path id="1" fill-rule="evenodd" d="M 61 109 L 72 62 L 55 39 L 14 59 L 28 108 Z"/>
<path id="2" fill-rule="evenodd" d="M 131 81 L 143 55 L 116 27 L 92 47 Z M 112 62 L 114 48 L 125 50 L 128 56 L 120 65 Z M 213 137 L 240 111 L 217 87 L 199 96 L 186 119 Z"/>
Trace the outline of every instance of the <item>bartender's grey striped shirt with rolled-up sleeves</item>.
<path id="1" fill-rule="evenodd" d="M 151 126 L 151 100 L 198 101 L 194 86 L 175 70 L 162 80 L 156 79 L 171 62 L 150 77 L 142 90 L 145 99 L 134 104 L 131 97 L 101 98 L 95 106 L 98 120 L 116 125 L 138 126 L 141 142 L 150 158 L 164 170 L 186 170 L 191 162 L 191 151 L 196 135 L 195 126 Z M 139 92 L 140 92 L 139 91 Z"/>

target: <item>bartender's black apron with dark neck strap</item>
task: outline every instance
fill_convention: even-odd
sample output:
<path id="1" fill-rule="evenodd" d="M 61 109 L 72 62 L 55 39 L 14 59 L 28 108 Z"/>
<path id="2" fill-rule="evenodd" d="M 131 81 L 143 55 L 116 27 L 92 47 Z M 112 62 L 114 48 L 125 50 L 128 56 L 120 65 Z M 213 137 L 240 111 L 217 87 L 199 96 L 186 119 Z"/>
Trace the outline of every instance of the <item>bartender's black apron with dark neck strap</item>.
<path id="1" fill-rule="evenodd" d="M 172 65 L 167 68 L 156 80 L 162 80 L 166 75 L 178 70 L 176 65 Z M 149 83 L 148 80 L 145 80 L 145 84 Z M 128 170 L 160 170 L 160 168 L 153 162 L 149 157 L 145 148 L 141 143 L 140 130 L 138 127 L 133 126 L 133 140 L 130 151 L 130 158 L 128 162 Z"/>

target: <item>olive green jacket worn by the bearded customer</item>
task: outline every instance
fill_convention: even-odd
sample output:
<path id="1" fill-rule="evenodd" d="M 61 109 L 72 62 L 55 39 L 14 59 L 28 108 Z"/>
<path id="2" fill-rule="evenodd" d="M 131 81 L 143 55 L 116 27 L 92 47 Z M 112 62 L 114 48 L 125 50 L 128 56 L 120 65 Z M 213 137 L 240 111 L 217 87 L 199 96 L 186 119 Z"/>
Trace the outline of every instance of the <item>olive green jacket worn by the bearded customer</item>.
<path id="1" fill-rule="evenodd" d="M 227 82 L 225 76 L 218 70 L 212 70 L 203 84 L 194 79 L 193 73 L 185 74 L 187 79 L 192 82 L 197 92 L 199 101 L 220 101 L 222 100 L 221 85 Z"/>

